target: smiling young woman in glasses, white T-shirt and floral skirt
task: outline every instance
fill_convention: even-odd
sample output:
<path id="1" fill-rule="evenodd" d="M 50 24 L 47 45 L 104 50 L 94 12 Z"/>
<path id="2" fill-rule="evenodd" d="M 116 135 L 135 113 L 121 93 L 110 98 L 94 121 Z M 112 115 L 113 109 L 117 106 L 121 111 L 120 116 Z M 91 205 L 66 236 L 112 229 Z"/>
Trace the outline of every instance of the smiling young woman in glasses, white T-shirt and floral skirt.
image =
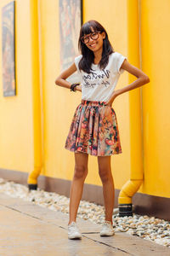
<path id="1" fill-rule="evenodd" d="M 103 184 L 105 222 L 100 236 L 113 236 L 112 214 L 114 207 L 114 182 L 111 174 L 111 154 L 121 154 L 121 142 L 116 113 L 111 107 L 117 96 L 150 82 L 148 76 L 127 61 L 127 57 L 115 52 L 105 28 L 95 20 L 82 25 L 79 37 L 81 55 L 55 80 L 55 84 L 82 91 L 82 102 L 72 119 L 65 148 L 75 154 L 75 170 L 71 183 L 70 220 L 68 237 L 81 239 L 76 218 L 82 188 L 88 174 L 88 154 L 98 156 L 99 177 Z M 115 90 L 120 74 L 126 70 L 137 79 L 126 87 Z M 81 85 L 66 79 L 78 72 Z"/>

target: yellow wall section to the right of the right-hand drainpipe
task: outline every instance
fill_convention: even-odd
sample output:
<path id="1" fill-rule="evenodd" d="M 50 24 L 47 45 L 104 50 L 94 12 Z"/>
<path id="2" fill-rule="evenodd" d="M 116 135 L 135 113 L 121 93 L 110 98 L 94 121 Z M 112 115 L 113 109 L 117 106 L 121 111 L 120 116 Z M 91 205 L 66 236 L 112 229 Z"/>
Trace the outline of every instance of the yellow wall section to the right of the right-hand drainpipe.
<path id="1" fill-rule="evenodd" d="M 142 191 L 170 197 L 170 2 L 142 0 L 141 12 L 142 66 L 150 77 L 143 87 Z"/>

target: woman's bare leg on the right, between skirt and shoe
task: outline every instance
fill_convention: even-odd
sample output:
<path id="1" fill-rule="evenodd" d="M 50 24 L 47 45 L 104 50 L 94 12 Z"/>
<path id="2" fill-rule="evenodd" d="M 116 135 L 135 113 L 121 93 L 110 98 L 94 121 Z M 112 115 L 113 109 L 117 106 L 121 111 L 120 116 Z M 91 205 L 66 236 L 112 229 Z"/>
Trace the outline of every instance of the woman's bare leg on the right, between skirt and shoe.
<path id="1" fill-rule="evenodd" d="M 111 156 L 98 156 L 99 177 L 103 183 L 103 195 L 105 201 L 105 220 L 111 221 L 115 203 L 115 188 L 111 174 Z"/>

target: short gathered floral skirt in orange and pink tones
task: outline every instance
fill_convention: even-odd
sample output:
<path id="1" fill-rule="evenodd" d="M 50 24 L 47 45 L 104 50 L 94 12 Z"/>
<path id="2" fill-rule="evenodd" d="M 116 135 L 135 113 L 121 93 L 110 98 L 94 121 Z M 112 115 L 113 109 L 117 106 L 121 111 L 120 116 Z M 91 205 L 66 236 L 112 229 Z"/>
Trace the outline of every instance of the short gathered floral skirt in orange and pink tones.
<path id="1" fill-rule="evenodd" d="M 122 153 L 116 113 L 105 102 L 82 100 L 74 113 L 65 148 L 75 153 Z"/>

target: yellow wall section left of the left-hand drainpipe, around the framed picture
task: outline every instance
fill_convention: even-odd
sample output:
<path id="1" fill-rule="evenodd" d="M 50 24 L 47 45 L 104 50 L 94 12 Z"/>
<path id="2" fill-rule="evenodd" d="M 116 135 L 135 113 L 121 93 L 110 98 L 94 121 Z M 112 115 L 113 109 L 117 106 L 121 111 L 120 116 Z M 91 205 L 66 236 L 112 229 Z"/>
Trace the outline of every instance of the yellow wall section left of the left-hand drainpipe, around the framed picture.
<path id="1" fill-rule="evenodd" d="M 0 9 L 10 1 L 0 1 Z M 2 12 L 0 24 L 2 24 Z M 16 96 L 3 96 L 0 26 L 0 168 L 32 168 L 30 1 L 16 1 Z"/>

